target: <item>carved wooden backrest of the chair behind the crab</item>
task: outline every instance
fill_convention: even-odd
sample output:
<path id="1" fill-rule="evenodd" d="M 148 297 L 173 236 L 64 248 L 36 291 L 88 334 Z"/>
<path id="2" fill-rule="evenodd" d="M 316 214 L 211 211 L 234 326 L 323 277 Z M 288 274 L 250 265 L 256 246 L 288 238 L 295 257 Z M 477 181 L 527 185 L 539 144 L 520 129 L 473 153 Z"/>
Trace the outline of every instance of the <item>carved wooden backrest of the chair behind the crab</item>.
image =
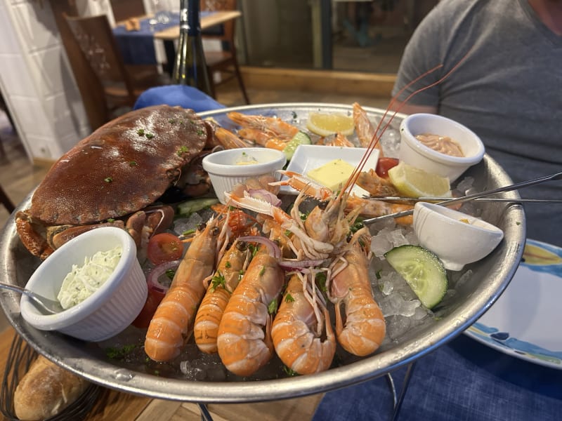
<path id="1" fill-rule="evenodd" d="M 106 15 L 77 17 L 65 15 L 65 20 L 82 54 L 104 88 L 122 85 L 131 106 L 134 104 L 133 83 L 126 72 L 121 51 L 115 41 Z"/>

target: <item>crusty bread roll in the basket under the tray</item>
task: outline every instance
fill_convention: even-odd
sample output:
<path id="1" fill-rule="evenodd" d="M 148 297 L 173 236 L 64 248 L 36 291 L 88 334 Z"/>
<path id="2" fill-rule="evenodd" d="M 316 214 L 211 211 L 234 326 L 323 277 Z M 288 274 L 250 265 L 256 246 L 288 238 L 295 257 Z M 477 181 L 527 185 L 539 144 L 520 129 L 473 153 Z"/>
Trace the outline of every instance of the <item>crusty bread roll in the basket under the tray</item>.
<path id="1" fill-rule="evenodd" d="M 22 421 L 53 417 L 76 401 L 88 385 L 40 355 L 15 389 L 15 415 Z"/>

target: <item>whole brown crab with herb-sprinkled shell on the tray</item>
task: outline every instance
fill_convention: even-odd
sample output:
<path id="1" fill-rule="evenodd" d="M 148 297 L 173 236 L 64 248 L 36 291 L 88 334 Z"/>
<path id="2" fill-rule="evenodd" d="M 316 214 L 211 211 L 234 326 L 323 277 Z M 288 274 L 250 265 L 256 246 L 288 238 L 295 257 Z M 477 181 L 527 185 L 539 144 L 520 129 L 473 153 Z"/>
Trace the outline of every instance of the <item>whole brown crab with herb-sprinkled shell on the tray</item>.
<path id="1" fill-rule="evenodd" d="M 22 243 L 46 258 L 81 232 L 115 225 L 139 246 L 147 230 L 165 229 L 174 217 L 170 206 L 150 205 L 212 138 L 211 126 L 195 112 L 167 105 L 106 123 L 53 164 L 30 208 L 15 215 Z"/>

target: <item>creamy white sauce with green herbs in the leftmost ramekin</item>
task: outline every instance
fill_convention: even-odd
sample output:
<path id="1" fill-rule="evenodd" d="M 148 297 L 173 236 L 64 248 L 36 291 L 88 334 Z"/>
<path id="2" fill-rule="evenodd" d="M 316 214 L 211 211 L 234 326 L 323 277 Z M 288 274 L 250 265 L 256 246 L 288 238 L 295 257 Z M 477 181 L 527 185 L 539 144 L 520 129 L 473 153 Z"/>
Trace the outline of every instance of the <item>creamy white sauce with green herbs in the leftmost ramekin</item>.
<path id="1" fill-rule="evenodd" d="M 65 276 L 57 295 L 61 307 L 70 309 L 98 290 L 117 267 L 122 253 L 121 246 L 117 246 L 84 258 L 82 266 L 72 265 L 72 271 Z"/>

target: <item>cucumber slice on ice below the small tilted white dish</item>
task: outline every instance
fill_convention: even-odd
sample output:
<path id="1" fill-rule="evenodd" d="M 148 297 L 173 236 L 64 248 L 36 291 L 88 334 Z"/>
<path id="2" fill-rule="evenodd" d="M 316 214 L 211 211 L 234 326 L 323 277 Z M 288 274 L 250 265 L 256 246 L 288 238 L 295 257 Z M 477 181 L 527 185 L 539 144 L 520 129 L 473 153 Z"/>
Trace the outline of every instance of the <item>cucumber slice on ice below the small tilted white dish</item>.
<path id="1" fill-rule="evenodd" d="M 443 299 L 447 292 L 447 272 L 443 262 L 431 251 L 407 244 L 393 248 L 384 257 L 425 307 L 431 309 Z"/>

